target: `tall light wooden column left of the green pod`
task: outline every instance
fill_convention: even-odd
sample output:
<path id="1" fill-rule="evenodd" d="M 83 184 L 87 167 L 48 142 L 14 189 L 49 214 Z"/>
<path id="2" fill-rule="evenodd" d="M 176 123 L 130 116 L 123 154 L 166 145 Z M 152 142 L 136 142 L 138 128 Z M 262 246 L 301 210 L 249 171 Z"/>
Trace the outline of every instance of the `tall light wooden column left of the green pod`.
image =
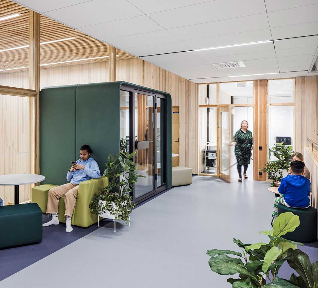
<path id="1" fill-rule="evenodd" d="M 40 14 L 29 10 L 29 88 L 36 91 L 29 98 L 31 173 L 40 173 Z"/>

